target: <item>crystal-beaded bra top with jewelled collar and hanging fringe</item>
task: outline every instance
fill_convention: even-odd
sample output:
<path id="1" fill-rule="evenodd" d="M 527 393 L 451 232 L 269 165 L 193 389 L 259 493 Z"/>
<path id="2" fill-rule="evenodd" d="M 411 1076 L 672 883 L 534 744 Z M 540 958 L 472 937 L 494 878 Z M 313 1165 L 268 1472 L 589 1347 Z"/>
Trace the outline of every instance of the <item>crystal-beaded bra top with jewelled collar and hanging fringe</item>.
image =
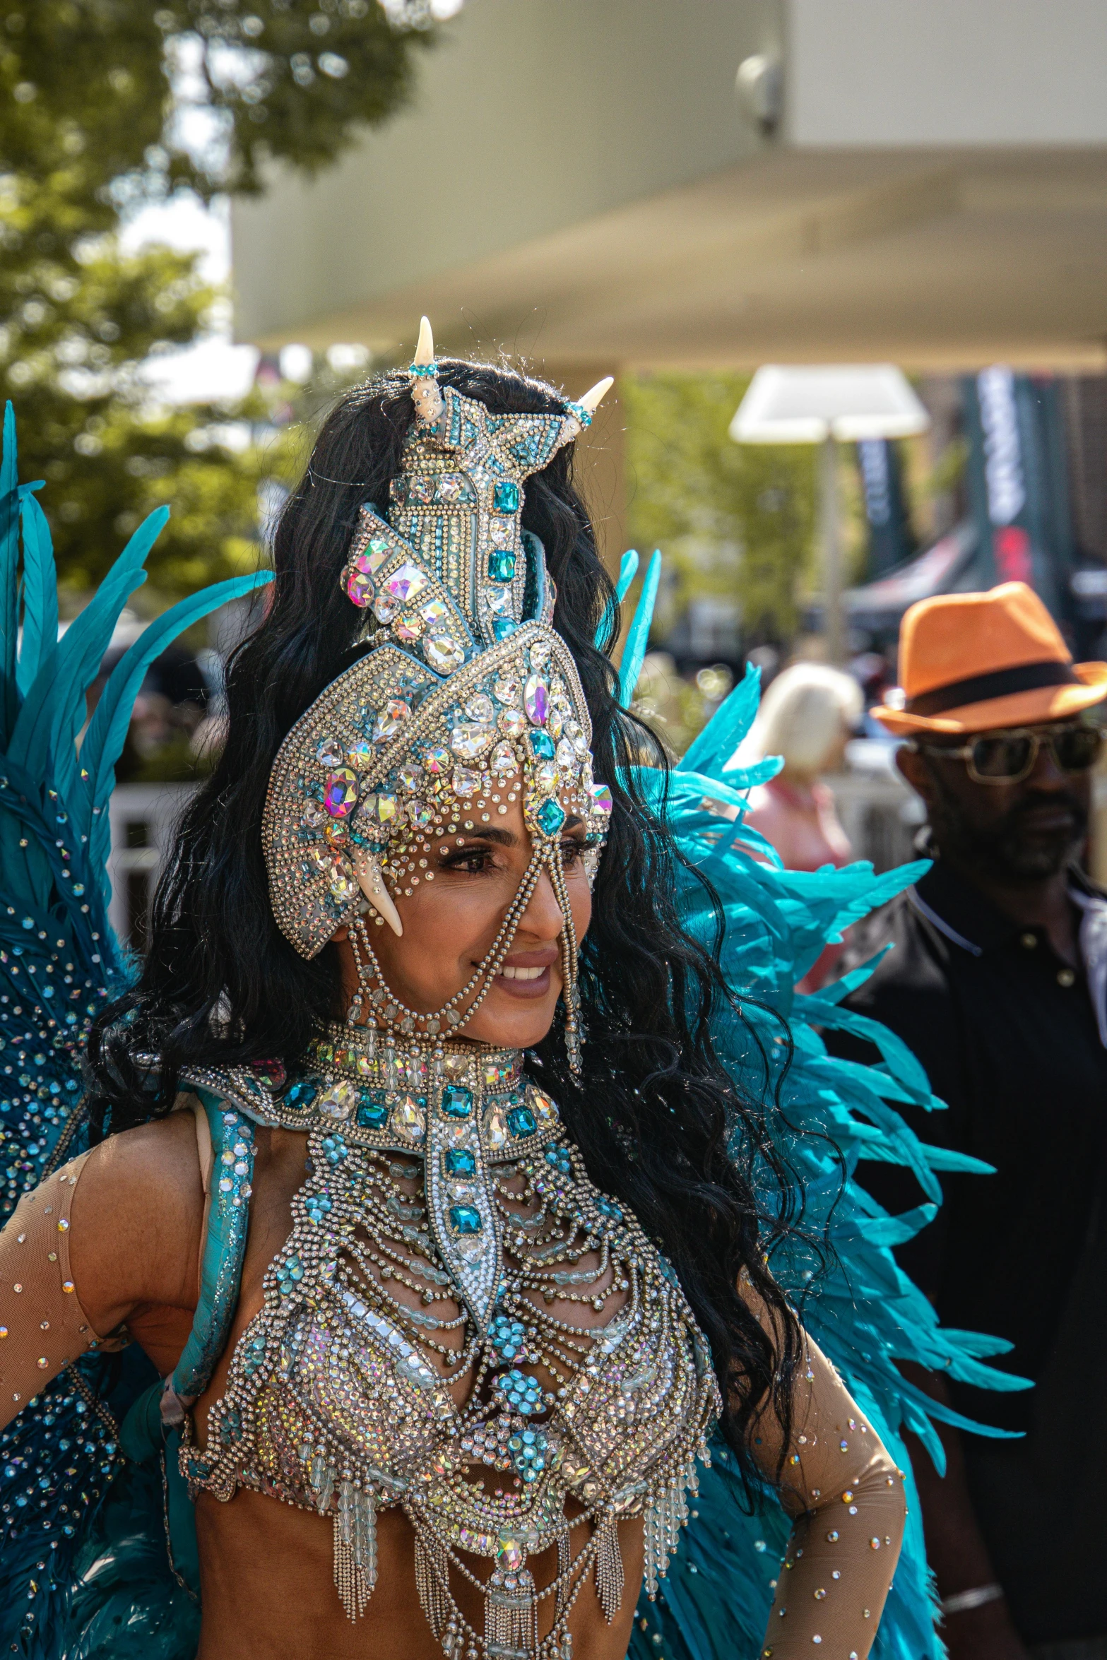
<path id="1" fill-rule="evenodd" d="M 651 1594 L 666 1572 L 719 1413 L 707 1346 L 672 1268 L 589 1182 L 518 1054 L 334 1039 L 319 1074 L 282 1092 L 256 1071 L 194 1077 L 237 1137 L 221 1152 L 224 1199 L 249 1194 L 236 1104 L 305 1130 L 309 1175 L 206 1448 L 186 1429 L 183 1474 L 193 1496 L 247 1486 L 332 1517 L 352 1618 L 375 1582 L 377 1511 L 400 1506 L 446 1655 L 538 1653 L 544 1597 L 541 1652 L 569 1653 L 589 1575 L 607 1618 L 619 1607 L 619 1517 L 644 1517 Z M 551 1311 L 609 1300 L 593 1328 Z M 461 1404 L 451 1378 L 471 1378 Z M 581 1514 L 591 1532 L 573 1559 Z M 536 1590 L 526 1560 L 551 1545 L 559 1572 Z M 466 1557 L 490 1559 L 490 1577 Z M 456 1607 L 458 1574 L 485 1590 L 483 1633 Z"/>

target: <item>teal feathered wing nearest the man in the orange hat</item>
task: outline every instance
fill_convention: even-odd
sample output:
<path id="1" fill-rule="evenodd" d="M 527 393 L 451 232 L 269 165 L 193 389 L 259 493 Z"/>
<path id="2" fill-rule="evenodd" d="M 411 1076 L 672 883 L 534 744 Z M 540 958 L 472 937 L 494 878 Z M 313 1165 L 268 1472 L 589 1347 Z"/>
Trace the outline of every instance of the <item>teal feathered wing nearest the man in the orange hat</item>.
<path id="1" fill-rule="evenodd" d="M 641 647 L 641 611 L 636 624 L 631 632 Z M 624 702 L 631 694 L 632 682 L 624 681 Z M 841 1008 L 873 963 L 817 996 L 795 993 L 825 945 L 909 886 L 926 865 L 885 875 L 870 863 L 815 873 L 785 870 L 773 848 L 744 823 L 750 787 L 772 777 L 780 762 L 744 770 L 730 765 L 757 704 L 758 674 L 749 671 L 667 784 L 646 769 L 637 784 L 715 895 L 712 900 L 687 872 L 679 878 L 685 926 L 705 943 L 722 931 L 720 963 L 740 1008 L 740 1016 L 725 1006 L 717 1009 L 715 1047 L 749 1097 L 778 1102 L 768 1125 L 803 1189 L 803 1235 L 828 1247 L 820 1260 L 793 1235 L 775 1252 L 773 1272 L 906 1472 L 908 1532 L 873 1653 L 876 1660 L 939 1660 L 944 1648 L 934 1628 L 936 1604 L 903 1431 L 921 1439 L 939 1469 L 944 1457 L 934 1419 L 981 1434 L 997 1431 L 969 1424 L 929 1399 L 905 1381 L 896 1363 L 916 1361 L 989 1389 L 1027 1384 L 984 1365 L 988 1356 L 1006 1353 L 1009 1343 L 948 1331 L 938 1323 L 891 1247 L 934 1217 L 939 1172 L 986 1175 L 991 1167 L 921 1142 L 898 1112 L 905 1102 L 926 1111 L 944 1104 L 891 1031 Z M 822 1033 L 830 1028 L 873 1041 L 880 1064 L 828 1056 Z M 906 1215 L 888 1215 L 856 1180 L 861 1159 L 909 1167 L 926 1202 Z M 719 1443 L 714 1452 L 659 1600 L 639 1604 L 632 1660 L 657 1653 L 667 1660 L 753 1660 L 760 1653 L 790 1527 L 772 1496 L 749 1514 L 725 1448 Z"/>

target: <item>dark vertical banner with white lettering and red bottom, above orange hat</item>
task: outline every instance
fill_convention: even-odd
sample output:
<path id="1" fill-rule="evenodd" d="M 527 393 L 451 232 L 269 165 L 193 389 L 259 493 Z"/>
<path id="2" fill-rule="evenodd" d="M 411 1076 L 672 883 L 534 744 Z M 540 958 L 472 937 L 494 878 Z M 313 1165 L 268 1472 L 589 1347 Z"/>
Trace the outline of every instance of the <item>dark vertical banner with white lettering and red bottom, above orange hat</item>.
<path id="1" fill-rule="evenodd" d="M 981 581 L 1029 583 L 1064 618 L 1072 530 L 1057 383 L 992 367 L 963 393 Z"/>

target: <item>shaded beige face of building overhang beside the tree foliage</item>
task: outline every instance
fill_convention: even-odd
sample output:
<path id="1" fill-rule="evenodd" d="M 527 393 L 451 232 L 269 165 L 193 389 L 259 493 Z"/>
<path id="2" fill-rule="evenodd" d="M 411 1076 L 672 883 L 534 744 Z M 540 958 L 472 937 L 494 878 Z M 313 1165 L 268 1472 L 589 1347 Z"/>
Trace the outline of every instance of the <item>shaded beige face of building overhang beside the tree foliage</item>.
<path id="1" fill-rule="evenodd" d="M 412 105 L 232 211 L 244 339 L 295 327 L 732 166 L 782 0 L 468 0 Z M 475 319 L 480 327 L 480 319 Z M 368 342 L 373 344 L 373 342 Z"/>

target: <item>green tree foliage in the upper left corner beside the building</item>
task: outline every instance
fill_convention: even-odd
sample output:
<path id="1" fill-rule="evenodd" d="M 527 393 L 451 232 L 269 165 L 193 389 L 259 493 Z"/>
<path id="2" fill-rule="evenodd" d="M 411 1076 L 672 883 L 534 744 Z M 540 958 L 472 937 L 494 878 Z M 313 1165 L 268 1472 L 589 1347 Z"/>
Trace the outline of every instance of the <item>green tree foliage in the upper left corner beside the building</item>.
<path id="1" fill-rule="evenodd" d="M 196 339 L 217 295 L 191 254 L 124 252 L 119 216 L 178 188 L 257 191 L 272 163 L 325 166 L 410 90 L 433 35 L 400 13 L 377 0 L 0 0 L 0 393 L 17 407 L 23 476 L 48 480 L 66 586 L 95 584 L 163 500 L 174 513 L 149 561 L 161 591 L 254 561 L 257 453 L 219 442 L 226 408 L 151 410 L 138 374 Z M 427 23 L 418 3 L 405 15 Z"/>

